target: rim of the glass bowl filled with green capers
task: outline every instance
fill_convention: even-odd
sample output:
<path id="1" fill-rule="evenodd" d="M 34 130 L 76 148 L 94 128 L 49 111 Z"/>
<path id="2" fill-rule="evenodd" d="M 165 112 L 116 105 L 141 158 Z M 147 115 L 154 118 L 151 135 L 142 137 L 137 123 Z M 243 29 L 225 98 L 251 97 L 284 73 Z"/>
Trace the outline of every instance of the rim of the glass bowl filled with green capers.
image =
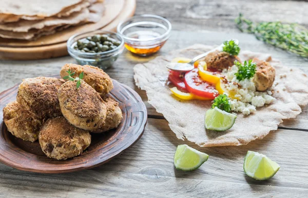
<path id="1" fill-rule="evenodd" d="M 82 52 L 80 50 L 75 50 L 73 47 L 72 47 L 72 44 L 69 45 L 72 40 L 77 37 L 77 36 L 80 36 L 82 34 L 87 34 L 87 33 L 91 33 L 91 32 L 95 32 L 95 31 L 102 31 L 102 32 L 107 32 L 109 34 L 114 34 L 114 35 L 117 35 L 121 38 L 121 44 L 119 46 L 117 46 L 117 48 L 114 48 L 112 50 L 109 50 L 109 51 L 104 51 L 104 52 L 95 52 L 95 53 L 89 53 L 89 52 Z M 82 33 L 77 33 L 77 34 L 74 34 L 72 35 L 71 37 L 69 37 L 69 39 L 67 40 L 66 42 L 66 46 L 67 46 L 67 49 L 68 50 L 71 50 L 71 53 L 73 54 L 77 54 L 77 55 L 112 55 L 113 52 L 116 52 L 118 50 L 121 50 L 121 48 L 124 46 L 124 38 L 121 34 L 117 33 L 117 32 L 112 32 L 112 31 L 107 31 L 107 30 L 101 30 L 101 29 L 98 29 L 98 30 L 91 30 L 91 31 L 88 31 L 88 32 L 82 32 Z"/>

